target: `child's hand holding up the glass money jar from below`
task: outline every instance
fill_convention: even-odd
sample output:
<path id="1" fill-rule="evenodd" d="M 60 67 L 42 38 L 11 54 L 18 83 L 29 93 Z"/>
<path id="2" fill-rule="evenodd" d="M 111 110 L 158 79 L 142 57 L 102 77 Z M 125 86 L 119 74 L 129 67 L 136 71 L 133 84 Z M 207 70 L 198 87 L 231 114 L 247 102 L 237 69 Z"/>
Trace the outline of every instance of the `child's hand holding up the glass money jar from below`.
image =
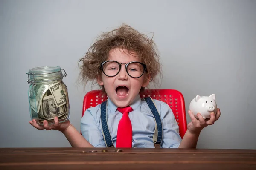
<path id="1" fill-rule="evenodd" d="M 53 129 L 53 130 L 59 130 L 62 133 L 64 133 L 64 131 L 67 130 L 67 128 L 70 126 L 70 121 L 68 120 L 68 121 L 59 123 L 58 118 L 55 117 L 54 124 L 51 124 L 51 125 L 49 125 L 46 120 L 43 121 L 44 125 L 38 125 L 36 123 L 35 119 L 33 119 L 32 121 L 29 121 L 29 124 L 31 124 L 31 126 L 37 128 L 39 130 L 42 130 L 42 129 L 52 130 Z"/>

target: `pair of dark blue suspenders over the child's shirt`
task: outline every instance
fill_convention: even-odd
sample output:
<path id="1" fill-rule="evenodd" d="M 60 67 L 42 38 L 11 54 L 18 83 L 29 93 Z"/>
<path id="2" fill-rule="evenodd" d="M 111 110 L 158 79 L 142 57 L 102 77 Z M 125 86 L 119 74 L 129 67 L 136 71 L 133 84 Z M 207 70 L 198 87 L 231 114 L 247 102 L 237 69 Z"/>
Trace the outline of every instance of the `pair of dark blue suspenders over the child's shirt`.
<path id="1" fill-rule="evenodd" d="M 162 142 L 162 138 L 163 138 L 162 121 L 157 111 L 157 108 L 155 107 L 153 99 L 151 99 L 150 97 L 147 97 L 147 98 L 144 98 L 144 100 L 147 102 L 151 112 L 153 113 L 154 120 L 156 123 L 156 128 L 153 135 L 154 146 L 156 148 L 160 148 L 160 143 Z M 106 146 L 114 147 L 113 141 L 108 129 L 108 124 L 107 124 L 107 101 L 104 101 L 101 104 L 101 122 L 102 122 L 103 138 Z"/>

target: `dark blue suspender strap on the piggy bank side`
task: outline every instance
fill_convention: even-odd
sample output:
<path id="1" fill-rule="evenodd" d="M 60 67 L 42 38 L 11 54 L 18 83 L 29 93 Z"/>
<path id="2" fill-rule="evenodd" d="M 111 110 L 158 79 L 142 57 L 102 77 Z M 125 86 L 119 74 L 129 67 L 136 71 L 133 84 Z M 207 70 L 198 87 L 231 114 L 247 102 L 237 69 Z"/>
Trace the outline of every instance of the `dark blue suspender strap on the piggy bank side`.
<path id="1" fill-rule="evenodd" d="M 157 107 L 151 97 L 144 98 L 144 100 L 147 102 L 148 107 L 150 108 L 151 112 L 154 115 L 155 119 L 155 131 L 153 135 L 153 141 L 154 141 L 154 146 L 156 148 L 160 148 L 160 144 L 162 142 L 163 138 L 163 126 L 162 126 L 162 121 L 159 115 L 159 112 L 157 111 Z"/>

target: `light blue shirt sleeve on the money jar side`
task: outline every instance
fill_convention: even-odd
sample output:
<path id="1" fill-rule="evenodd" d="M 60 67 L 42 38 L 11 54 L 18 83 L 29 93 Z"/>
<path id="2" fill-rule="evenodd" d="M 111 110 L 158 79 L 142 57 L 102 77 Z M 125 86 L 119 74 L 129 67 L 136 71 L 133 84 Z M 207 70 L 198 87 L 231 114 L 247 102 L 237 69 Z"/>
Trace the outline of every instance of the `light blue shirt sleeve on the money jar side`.
<path id="1" fill-rule="evenodd" d="M 81 133 L 94 147 L 106 147 L 100 121 L 100 105 L 87 109 L 81 118 Z"/>

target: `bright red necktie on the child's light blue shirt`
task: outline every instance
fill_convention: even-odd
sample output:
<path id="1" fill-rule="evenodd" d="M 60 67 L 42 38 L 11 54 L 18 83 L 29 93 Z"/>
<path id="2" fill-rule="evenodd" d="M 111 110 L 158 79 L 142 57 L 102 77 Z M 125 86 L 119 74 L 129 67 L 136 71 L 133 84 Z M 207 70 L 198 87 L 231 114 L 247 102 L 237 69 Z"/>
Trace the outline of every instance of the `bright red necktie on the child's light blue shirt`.
<path id="1" fill-rule="evenodd" d="M 119 121 L 116 137 L 116 147 L 131 147 L 132 146 L 132 127 L 131 120 L 128 117 L 128 113 L 133 111 L 133 109 L 128 107 L 120 108 L 117 110 L 121 112 L 122 118 Z"/>

